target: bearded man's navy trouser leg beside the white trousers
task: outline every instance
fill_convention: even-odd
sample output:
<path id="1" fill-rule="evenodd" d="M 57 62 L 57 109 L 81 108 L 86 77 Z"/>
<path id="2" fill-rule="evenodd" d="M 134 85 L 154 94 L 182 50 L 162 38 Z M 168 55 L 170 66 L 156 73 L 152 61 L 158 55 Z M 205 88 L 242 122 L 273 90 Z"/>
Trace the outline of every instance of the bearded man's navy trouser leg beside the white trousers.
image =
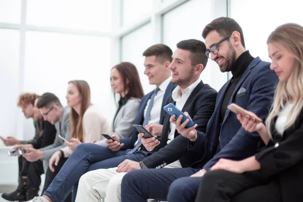
<path id="1" fill-rule="evenodd" d="M 148 198 L 167 200 L 169 186 L 178 178 L 189 177 L 200 169 L 141 169 L 127 173 L 121 184 L 122 202 L 144 201 Z"/>

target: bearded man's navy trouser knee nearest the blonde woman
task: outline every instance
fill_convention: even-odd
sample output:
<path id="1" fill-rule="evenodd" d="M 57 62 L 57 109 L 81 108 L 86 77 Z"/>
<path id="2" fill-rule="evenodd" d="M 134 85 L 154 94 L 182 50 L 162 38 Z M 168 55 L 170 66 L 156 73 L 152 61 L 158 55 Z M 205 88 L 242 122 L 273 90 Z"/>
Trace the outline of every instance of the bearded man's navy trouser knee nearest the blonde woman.
<path id="1" fill-rule="evenodd" d="M 194 202 L 202 177 L 182 177 L 175 180 L 169 187 L 167 201 Z"/>

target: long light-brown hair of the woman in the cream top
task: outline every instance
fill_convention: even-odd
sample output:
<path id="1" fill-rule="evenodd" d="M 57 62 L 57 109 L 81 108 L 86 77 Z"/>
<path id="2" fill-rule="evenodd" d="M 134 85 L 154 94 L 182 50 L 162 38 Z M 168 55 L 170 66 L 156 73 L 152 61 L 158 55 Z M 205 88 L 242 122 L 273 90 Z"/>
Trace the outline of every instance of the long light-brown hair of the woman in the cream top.
<path id="1" fill-rule="evenodd" d="M 71 125 L 71 137 L 77 138 L 81 142 L 83 142 L 83 115 L 87 108 L 90 105 L 90 89 L 89 85 L 86 81 L 83 80 L 73 80 L 69 81 L 68 84 L 74 84 L 79 91 L 79 96 L 81 99 L 81 107 L 80 107 L 80 114 L 72 108 L 70 112 L 70 125 Z"/>

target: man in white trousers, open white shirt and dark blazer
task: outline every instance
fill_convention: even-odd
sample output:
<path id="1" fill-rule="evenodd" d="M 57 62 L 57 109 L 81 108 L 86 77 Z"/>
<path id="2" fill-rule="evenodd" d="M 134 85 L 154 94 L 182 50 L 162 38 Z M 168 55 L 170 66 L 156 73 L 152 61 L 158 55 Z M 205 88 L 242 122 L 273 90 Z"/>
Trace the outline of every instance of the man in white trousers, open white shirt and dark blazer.
<path id="1" fill-rule="evenodd" d="M 176 107 L 182 111 L 188 111 L 196 123 L 194 128 L 198 126 L 201 130 L 206 130 L 207 122 L 214 111 L 217 96 L 216 90 L 199 79 L 200 73 L 208 61 L 204 55 L 205 51 L 205 44 L 196 39 L 183 40 L 177 44 L 177 49 L 173 54 L 173 62 L 169 68 L 172 71 L 172 82 L 178 86 L 167 102 L 167 104 L 175 103 Z M 167 165 L 167 162 L 158 164 L 157 162 L 157 168 L 182 168 L 182 166 L 186 166 L 179 159 L 181 160 L 186 154 L 187 147 L 184 146 L 184 143 L 187 145 L 187 140 L 181 135 L 179 136 L 175 125 L 169 122 L 169 117 L 168 114 L 165 114 L 162 143 L 157 138 L 144 138 L 141 133 L 138 135 L 146 149 L 158 152 L 144 158 L 141 162 L 125 160 L 117 168 L 98 169 L 84 174 L 79 181 L 76 202 L 100 201 L 103 197 L 105 197 L 105 201 L 121 201 L 120 190 L 123 176 L 132 170 L 146 168 L 144 160 L 153 159 L 153 156 L 162 156 L 163 154 L 173 156 L 170 157 L 171 164 Z M 170 145 L 176 149 L 176 153 L 167 153 L 167 148 L 171 150 Z"/>

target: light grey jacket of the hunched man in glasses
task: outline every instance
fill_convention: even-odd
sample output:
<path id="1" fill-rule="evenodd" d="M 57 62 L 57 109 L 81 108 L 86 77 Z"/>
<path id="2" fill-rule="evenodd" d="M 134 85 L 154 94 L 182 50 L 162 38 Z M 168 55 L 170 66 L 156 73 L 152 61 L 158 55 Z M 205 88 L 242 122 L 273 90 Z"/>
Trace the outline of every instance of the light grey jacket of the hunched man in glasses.
<path id="1" fill-rule="evenodd" d="M 58 135 L 61 135 L 67 140 L 70 140 L 71 138 L 71 126 L 70 126 L 70 119 L 69 119 L 69 113 L 71 109 L 69 107 L 66 107 L 63 109 L 61 122 L 56 122 L 55 127 L 57 130 L 57 134 L 54 140 L 54 143 L 48 146 L 45 146 L 41 148 L 40 150 L 43 153 L 43 157 L 45 161 L 49 161 L 53 154 L 60 150 L 62 147 L 65 147 L 64 140 L 61 139 Z M 61 127 L 60 127 L 61 125 Z M 48 164 L 48 163 L 47 163 Z"/>

